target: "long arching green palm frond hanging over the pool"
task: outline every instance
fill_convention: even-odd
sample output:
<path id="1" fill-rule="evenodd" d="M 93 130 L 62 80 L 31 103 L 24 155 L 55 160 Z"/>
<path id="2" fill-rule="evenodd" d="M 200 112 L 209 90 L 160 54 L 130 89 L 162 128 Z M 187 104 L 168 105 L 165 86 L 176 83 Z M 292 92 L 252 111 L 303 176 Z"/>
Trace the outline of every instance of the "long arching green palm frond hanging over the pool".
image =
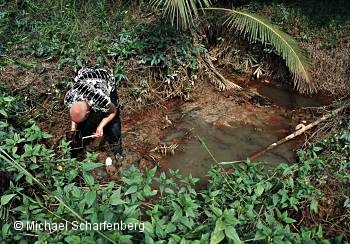
<path id="1" fill-rule="evenodd" d="M 272 45 L 286 62 L 293 75 L 294 88 L 301 93 L 312 93 L 316 88 L 309 76 L 309 59 L 306 51 L 288 34 L 279 30 L 267 19 L 243 11 L 224 8 L 207 8 L 228 12 L 225 24 L 241 32 L 249 41 Z"/>

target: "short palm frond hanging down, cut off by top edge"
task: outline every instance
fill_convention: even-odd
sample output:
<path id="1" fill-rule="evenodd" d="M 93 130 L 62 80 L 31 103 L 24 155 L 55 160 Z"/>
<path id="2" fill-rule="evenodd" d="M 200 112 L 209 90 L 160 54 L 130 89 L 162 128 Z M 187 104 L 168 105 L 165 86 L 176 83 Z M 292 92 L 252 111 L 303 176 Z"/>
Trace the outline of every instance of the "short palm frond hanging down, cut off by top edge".
<path id="1" fill-rule="evenodd" d="M 170 18 L 171 24 L 186 29 L 198 18 L 198 10 L 211 6 L 210 0 L 151 0 L 151 5 L 162 9 Z"/>

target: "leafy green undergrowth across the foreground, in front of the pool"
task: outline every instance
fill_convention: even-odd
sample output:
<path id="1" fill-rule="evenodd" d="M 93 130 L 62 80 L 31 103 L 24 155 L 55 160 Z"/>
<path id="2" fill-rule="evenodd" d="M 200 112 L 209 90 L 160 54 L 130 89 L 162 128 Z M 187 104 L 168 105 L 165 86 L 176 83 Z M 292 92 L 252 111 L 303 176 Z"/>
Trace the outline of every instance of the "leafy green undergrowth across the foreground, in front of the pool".
<path id="1" fill-rule="evenodd" d="M 215 165 L 209 181 L 178 171 L 141 172 L 134 166 L 120 182 L 101 185 L 92 170 L 102 167 L 97 155 L 83 161 L 70 157 L 69 143 L 47 146 L 50 135 L 33 121 L 11 121 L 23 112 L 2 92 L 0 163 L 10 182 L 1 196 L 1 243 L 331 243 L 349 240 L 350 125 L 307 151 L 299 162 L 271 172 L 264 164 L 245 162 L 226 170 Z M 331 153 L 326 153 L 327 151 Z M 329 198 L 327 186 L 339 189 Z M 329 199 L 336 199 L 327 206 Z M 334 211 L 334 216 L 327 213 Z M 329 223 L 330 217 L 333 221 Z M 308 219 L 312 219 L 308 221 Z M 66 223 L 67 230 L 15 230 L 14 222 Z M 142 224 L 140 230 L 84 231 L 77 222 Z"/>

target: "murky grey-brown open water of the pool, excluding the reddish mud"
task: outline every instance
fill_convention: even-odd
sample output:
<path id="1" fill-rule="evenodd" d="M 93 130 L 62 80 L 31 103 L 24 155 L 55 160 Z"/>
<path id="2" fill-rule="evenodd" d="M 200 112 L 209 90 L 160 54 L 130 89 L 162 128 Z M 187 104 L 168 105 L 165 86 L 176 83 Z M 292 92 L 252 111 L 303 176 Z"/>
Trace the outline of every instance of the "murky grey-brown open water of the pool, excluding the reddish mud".
<path id="1" fill-rule="evenodd" d="M 208 151 L 199 143 L 197 136 L 205 142 L 211 154 L 218 162 L 245 160 L 253 153 L 278 140 L 277 135 L 269 130 L 261 130 L 249 125 L 218 127 L 199 117 L 186 118 L 182 126 L 190 128 L 192 138 L 180 145 L 174 156 L 166 159 L 164 169 L 179 169 L 183 175 L 191 173 L 203 178 L 215 163 Z M 281 162 L 290 163 L 294 158 L 290 143 L 265 154 L 260 160 L 266 160 L 271 166 Z"/>

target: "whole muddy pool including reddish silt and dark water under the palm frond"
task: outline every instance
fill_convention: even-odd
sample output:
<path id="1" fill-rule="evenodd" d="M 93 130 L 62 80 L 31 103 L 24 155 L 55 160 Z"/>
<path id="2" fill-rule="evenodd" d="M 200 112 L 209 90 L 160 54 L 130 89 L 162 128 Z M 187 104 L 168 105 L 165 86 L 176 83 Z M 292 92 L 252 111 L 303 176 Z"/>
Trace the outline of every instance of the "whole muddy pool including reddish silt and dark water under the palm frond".
<path id="1" fill-rule="evenodd" d="M 257 88 L 258 92 L 267 97 L 272 105 L 279 106 L 253 109 L 253 111 L 250 109 L 250 113 L 247 113 L 243 106 L 233 108 L 233 110 L 232 106 L 227 106 L 231 109 L 228 113 L 235 113 L 235 116 L 227 117 L 226 121 L 221 121 L 219 126 L 213 121 L 208 123 L 208 117 L 213 117 L 213 111 L 225 106 L 226 102 L 220 99 L 217 99 L 216 105 L 209 109 L 209 116 L 208 112 L 202 112 L 202 109 L 187 114 L 177 126 L 178 130 L 172 133 L 176 137 L 181 134 L 181 130 L 188 130 L 191 135 L 190 139 L 180 144 L 175 155 L 165 159 L 162 168 L 164 170 L 179 169 L 183 175 L 192 174 L 204 179 L 208 169 L 215 164 L 215 161 L 199 143 L 197 136 L 205 141 L 218 162 L 245 160 L 293 132 L 291 117 L 283 111 L 291 108 L 320 106 L 326 103 L 324 100 L 290 94 L 288 91 L 268 85 L 260 85 Z M 206 103 L 203 110 L 206 110 L 208 106 L 210 103 Z M 281 109 L 281 106 L 284 108 Z M 218 113 L 222 113 L 222 110 Z M 171 138 L 172 135 L 168 135 L 169 137 Z M 268 162 L 271 167 L 282 162 L 291 163 L 296 159 L 293 146 L 295 146 L 295 141 L 284 143 L 266 153 L 259 160 Z"/>

